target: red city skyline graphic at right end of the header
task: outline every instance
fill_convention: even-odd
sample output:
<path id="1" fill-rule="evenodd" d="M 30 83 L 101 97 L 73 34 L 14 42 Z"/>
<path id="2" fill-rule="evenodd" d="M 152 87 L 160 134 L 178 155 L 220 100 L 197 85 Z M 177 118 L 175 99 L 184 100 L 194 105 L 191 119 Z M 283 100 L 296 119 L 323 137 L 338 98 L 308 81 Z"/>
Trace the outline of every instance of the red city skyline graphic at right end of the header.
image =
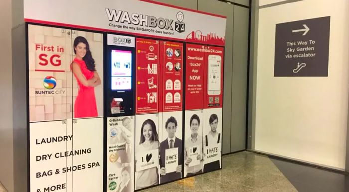
<path id="1" fill-rule="evenodd" d="M 190 42 L 200 42 L 206 44 L 216 44 L 216 45 L 224 45 L 225 44 L 225 36 L 219 37 L 216 33 L 209 33 L 208 35 L 202 35 L 200 30 L 192 31 L 186 36 L 186 40 Z"/>

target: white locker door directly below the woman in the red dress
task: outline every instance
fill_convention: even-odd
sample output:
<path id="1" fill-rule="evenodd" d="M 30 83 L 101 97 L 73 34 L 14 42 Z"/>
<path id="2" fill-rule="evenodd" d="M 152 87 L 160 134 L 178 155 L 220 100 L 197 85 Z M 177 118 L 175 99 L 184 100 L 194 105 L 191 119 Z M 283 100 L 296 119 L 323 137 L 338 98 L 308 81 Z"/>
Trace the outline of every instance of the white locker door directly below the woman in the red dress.
<path id="1" fill-rule="evenodd" d="M 103 191 L 103 117 L 73 120 L 72 192 Z"/>

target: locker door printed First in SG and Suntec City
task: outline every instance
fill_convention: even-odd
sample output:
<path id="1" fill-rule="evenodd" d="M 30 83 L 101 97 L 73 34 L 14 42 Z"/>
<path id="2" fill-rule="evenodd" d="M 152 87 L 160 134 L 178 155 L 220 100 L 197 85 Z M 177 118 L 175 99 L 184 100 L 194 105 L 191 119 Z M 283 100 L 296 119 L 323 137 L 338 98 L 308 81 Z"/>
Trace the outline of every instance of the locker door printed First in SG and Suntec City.
<path id="1" fill-rule="evenodd" d="M 67 49 L 70 42 L 66 29 L 28 25 L 30 122 L 68 118 L 66 59 L 71 54 Z"/>

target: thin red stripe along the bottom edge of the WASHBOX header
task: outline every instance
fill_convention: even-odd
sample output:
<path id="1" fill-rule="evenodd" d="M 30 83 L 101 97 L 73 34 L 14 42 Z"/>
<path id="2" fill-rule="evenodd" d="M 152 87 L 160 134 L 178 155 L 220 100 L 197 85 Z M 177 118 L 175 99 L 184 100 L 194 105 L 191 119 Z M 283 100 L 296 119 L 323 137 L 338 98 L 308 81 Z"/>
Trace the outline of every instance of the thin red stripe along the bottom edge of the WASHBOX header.
<path id="1" fill-rule="evenodd" d="M 32 22 L 32 23 L 39 23 L 39 24 L 47 24 L 47 25 L 56 25 L 56 26 L 62 26 L 62 27 L 70 27 L 70 28 L 80 28 L 80 29 L 86 29 L 86 30 L 93 30 L 93 31 L 100 31 L 100 32 L 112 32 L 112 33 L 121 33 L 121 34 L 128 34 L 133 36 L 142 36 L 142 37 L 150 37 L 150 38 L 157 38 L 157 39 L 167 39 L 167 40 L 173 40 L 173 41 L 184 41 L 184 42 L 190 42 L 191 39 L 178 39 L 178 38 L 172 38 L 172 37 L 163 37 L 163 36 L 156 36 L 156 35 L 148 35 L 143 33 L 132 33 L 132 32 L 126 32 L 126 31 L 118 31 L 118 30 L 111 30 L 111 29 L 103 29 L 103 28 L 96 28 L 96 27 L 88 27 L 88 26 L 82 26 L 82 25 L 74 25 L 74 24 L 65 24 L 65 23 L 59 23 L 59 22 L 51 22 L 51 21 L 43 21 L 43 20 L 35 20 L 35 19 L 24 19 L 25 22 Z M 54 26 L 52 26 L 54 27 Z M 193 41 L 196 42 L 196 41 Z M 214 43 L 207 43 L 207 42 L 196 42 L 201 44 L 209 44 L 209 45 L 217 45 L 217 46 L 224 46 L 224 44 L 214 44 Z"/>

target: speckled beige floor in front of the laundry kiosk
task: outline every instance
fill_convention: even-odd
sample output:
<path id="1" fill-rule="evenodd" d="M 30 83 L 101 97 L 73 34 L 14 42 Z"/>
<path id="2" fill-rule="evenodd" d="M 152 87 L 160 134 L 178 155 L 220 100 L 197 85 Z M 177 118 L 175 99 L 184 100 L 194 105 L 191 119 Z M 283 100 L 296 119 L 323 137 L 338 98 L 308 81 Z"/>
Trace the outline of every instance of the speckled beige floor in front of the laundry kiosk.
<path id="1" fill-rule="evenodd" d="M 223 156 L 223 169 L 141 192 L 297 192 L 272 161 L 240 152 Z"/>

